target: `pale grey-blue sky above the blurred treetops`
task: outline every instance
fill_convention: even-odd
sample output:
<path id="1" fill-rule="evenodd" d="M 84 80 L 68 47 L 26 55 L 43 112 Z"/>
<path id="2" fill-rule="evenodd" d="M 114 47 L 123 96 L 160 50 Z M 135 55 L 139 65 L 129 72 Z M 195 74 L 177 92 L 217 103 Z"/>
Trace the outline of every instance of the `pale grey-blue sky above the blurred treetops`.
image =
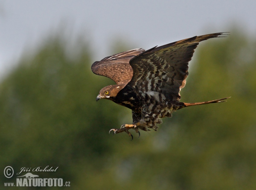
<path id="1" fill-rule="evenodd" d="M 0 78 L 63 24 L 90 39 L 96 61 L 115 38 L 148 49 L 234 23 L 256 35 L 256 0 L 0 0 Z"/>

